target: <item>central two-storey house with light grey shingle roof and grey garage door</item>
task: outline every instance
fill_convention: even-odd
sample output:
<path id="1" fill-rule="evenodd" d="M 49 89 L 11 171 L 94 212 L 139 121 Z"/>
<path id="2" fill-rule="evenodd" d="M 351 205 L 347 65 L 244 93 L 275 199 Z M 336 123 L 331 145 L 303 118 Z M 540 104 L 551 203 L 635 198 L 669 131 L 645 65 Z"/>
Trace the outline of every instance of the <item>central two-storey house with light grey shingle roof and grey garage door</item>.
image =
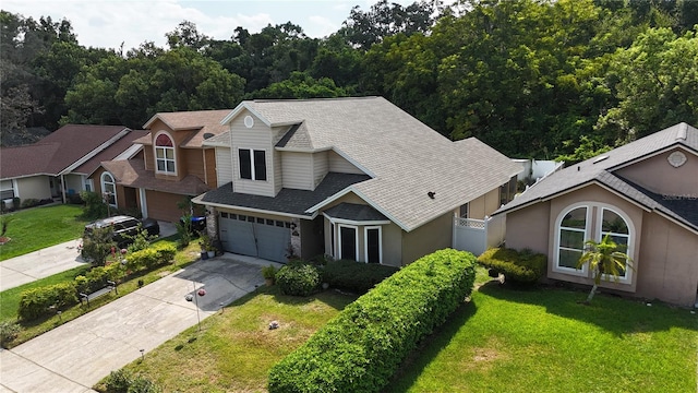
<path id="1" fill-rule="evenodd" d="M 410 263 L 452 247 L 454 216 L 484 218 L 513 198 L 521 170 L 381 97 L 248 100 L 222 123 L 204 142 L 220 186 L 194 202 L 224 249 L 279 262 Z"/>

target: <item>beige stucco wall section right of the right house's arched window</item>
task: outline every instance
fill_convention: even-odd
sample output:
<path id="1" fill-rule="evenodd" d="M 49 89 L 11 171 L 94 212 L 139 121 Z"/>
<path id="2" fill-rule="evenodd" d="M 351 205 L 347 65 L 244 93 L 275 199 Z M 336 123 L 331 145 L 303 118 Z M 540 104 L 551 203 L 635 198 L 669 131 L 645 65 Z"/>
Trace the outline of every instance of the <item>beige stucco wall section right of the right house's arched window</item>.
<path id="1" fill-rule="evenodd" d="M 657 213 L 646 213 L 637 295 L 693 306 L 698 290 L 698 235 Z"/>

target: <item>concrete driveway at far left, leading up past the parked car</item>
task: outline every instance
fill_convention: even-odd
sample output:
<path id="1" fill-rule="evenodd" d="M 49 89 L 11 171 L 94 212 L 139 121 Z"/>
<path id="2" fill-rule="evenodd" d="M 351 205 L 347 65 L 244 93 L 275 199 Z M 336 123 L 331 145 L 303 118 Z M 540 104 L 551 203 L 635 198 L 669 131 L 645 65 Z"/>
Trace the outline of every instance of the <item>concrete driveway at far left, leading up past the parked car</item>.
<path id="1" fill-rule="evenodd" d="M 177 234 L 174 224 L 159 224 L 160 237 Z M 77 252 L 81 242 L 70 240 L 0 262 L 0 291 L 85 264 Z"/>

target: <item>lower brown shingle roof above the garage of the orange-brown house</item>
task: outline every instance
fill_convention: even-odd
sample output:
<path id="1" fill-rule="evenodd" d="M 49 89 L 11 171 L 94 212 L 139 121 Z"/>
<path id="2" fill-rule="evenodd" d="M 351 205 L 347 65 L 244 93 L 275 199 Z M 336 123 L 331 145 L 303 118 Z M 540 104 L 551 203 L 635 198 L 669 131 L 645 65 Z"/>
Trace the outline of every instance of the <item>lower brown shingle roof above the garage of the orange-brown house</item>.
<path id="1" fill-rule="evenodd" d="M 118 184 L 163 191 L 181 195 L 198 195 L 209 190 L 197 177 L 189 175 L 180 181 L 158 179 L 152 170 L 145 170 L 142 159 L 121 159 L 101 163 L 113 175 Z"/>

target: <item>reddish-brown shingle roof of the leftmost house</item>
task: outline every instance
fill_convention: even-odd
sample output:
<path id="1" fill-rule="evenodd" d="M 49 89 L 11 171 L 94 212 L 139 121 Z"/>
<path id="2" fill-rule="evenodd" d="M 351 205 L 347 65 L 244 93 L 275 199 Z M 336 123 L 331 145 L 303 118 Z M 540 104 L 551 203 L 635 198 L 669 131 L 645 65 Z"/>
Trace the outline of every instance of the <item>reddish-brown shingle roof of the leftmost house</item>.
<path id="1" fill-rule="evenodd" d="M 123 126 L 68 124 L 35 144 L 2 148 L 0 177 L 58 176 L 109 147 L 129 133 Z"/>

